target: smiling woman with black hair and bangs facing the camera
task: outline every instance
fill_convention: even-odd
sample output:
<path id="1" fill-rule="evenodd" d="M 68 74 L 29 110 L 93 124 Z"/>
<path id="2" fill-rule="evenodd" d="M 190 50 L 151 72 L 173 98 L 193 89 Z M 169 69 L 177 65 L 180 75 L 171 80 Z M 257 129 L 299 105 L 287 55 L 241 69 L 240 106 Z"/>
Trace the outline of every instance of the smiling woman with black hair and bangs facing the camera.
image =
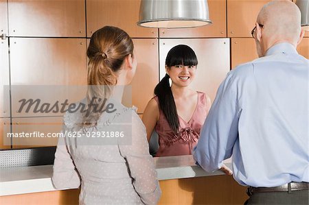
<path id="1" fill-rule="evenodd" d="M 198 142 L 211 103 L 205 93 L 189 88 L 197 64 L 196 54 L 187 45 L 177 45 L 168 52 L 166 75 L 155 87 L 156 96 L 143 114 L 148 141 L 154 129 L 159 135 L 156 156 L 192 154 Z"/>

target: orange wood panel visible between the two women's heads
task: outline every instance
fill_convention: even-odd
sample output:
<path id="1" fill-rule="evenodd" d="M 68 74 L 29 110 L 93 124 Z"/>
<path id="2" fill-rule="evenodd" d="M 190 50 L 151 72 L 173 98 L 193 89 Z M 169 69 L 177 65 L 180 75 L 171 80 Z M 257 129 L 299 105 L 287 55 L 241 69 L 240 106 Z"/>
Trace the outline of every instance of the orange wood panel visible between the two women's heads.
<path id="1" fill-rule="evenodd" d="M 157 39 L 133 39 L 137 70 L 132 82 L 132 102 L 143 113 L 159 83 L 159 51 Z"/>

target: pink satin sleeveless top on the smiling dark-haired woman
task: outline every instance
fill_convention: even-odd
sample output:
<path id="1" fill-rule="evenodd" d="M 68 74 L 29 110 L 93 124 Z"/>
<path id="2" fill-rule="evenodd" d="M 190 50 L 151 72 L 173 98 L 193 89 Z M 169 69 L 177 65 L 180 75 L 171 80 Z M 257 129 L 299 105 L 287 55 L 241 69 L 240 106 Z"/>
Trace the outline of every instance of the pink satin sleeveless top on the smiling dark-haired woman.
<path id="1" fill-rule="evenodd" d="M 155 130 L 159 135 L 159 149 L 156 156 L 177 156 L 177 155 L 190 155 L 192 149 L 198 142 L 200 136 L 201 127 L 207 117 L 207 105 L 205 100 L 206 94 L 198 92 L 198 103 L 192 114 L 190 121 L 186 122 L 179 116 L 179 133 L 176 134 L 170 125 L 168 120 L 163 114 L 163 111 L 159 109 L 159 121 Z M 159 98 L 153 97 L 158 105 Z"/>

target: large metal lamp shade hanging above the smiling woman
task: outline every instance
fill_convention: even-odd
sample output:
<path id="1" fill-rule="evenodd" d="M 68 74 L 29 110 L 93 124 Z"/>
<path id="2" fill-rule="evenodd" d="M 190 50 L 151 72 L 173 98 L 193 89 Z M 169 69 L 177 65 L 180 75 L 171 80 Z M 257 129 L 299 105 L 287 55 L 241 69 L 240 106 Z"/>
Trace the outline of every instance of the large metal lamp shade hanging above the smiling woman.
<path id="1" fill-rule="evenodd" d="M 184 28 L 210 23 L 207 0 L 141 0 L 137 25 Z"/>

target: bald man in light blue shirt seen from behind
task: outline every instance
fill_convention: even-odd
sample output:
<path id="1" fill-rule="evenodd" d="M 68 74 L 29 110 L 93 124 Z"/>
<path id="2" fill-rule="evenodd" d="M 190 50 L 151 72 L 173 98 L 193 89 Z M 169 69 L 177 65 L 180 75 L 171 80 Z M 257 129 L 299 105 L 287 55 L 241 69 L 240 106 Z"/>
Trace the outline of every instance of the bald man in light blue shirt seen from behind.
<path id="1" fill-rule="evenodd" d="M 251 34 L 260 58 L 230 71 L 194 147 L 206 171 L 229 169 L 249 186 L 247 204 L 308 205 L 308 68 L 297 53 L 304 36 L 292 1 L 271 1 Z"/>

